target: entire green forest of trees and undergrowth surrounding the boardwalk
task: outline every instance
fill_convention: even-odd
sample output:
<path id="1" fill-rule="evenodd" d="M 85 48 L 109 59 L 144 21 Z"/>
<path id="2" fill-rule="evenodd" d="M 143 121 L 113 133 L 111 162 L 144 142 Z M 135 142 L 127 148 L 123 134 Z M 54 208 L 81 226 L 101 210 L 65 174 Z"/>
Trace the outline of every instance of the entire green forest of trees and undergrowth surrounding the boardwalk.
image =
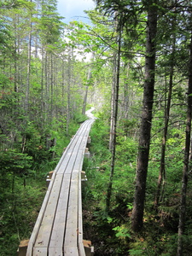
<path id="1" fill-rule="evenodd" d="M 192 255 L 192 5 L 0 3 L 0 255 L 28 239 L 70 137 L 96 108 L 84 238 L 96 255 Z"/>

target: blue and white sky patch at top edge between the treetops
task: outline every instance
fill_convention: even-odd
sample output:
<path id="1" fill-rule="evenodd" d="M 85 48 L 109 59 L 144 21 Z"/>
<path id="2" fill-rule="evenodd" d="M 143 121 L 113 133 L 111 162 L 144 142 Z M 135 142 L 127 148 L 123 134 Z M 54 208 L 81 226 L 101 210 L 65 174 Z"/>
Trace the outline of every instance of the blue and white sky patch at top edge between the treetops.
<path id="1" fill-rule="evenodd" d="M 92 0 L 57 0 L 58 13 L 65 17 L 63 22 L 68 23 L 73 20 L 84 21 L 89 23 L 89 19 L 86 19 L 84 10 L 90 10 L 95 7 L 95 3 Z"/>

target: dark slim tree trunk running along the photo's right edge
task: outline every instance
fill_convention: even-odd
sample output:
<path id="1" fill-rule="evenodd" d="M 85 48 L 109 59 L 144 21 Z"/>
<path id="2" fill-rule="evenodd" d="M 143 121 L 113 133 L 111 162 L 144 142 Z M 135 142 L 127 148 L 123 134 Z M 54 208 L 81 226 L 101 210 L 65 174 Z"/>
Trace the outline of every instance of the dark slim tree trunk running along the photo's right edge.
<path id="1" fill-rule="evenodd" d="M 186 131 L 185 131 L 186 135 L 185 135 L 185 149 L 184 149 L 184 161 L 183 161 L 184 165 L 183 165 L 182 190 L 181 190 L 181 205 L 180 205 L 179 223 L 178 223 L 177 256 L 183 255 L 183 231 L 184 231 L 184 224 L 185 224 L 186 195 L 187 195 L 188 171 L 189 171 L 191 119 L 192 119 L 192 31 L 191 31 L 191 38 L 190 38 L 188 109 L 187 109 L 187 123 L 186 123 Z"/>

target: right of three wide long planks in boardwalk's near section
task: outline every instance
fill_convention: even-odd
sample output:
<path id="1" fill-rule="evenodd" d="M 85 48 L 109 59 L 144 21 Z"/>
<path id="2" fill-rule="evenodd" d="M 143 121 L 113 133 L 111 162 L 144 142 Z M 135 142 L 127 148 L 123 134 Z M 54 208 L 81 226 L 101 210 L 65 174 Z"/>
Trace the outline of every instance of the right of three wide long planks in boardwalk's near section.
<path id="1" fill-rule="evenodd" d="M 78 247 L 78 195 L 79 173 L 73 173 L 67 212 L 67 225 L 64 241 L 66 247 Z"/>

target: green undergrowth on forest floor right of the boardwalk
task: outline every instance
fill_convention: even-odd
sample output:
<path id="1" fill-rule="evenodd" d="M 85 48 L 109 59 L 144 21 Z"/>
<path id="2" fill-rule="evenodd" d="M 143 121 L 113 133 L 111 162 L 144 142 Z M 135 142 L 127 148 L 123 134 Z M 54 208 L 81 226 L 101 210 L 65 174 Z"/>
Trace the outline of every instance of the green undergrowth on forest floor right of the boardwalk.
<path id="1" fill-rule="evenodd" d="M 154 211 L 154 195 L 159 165 L 153 148 L 148 167 L 148 183 L 144 212 L 144 225 L 140 233 L 131 230 L 131 211 L 137 167 L 137 141 L 119 131 L 116 148 L 113 195 L 110 211 L 105 212 L 106 194 L 110 175 L 108 151 L 108 125 L 97 119 L 90 136 L 90 160 L 84 160 L 88 181 L 83 185 L 84 239 L 92 241 L 95 255 L 175 256 L 177 253 L 177 224 L 179 210 L 180 174 L 182 164 L 167 160 L 167 180 L 159 211 Z M 174 148 L 169 148 L 171 154 Z M 175 157 L 181 159 L 181 155 Z M 190 186 L 191 187 L 191 186 Z M 190 191 L 190 189 L 189 189 Z M 191 211 L 188 195 L 186 234 L 183 237 L 183 255 L 191 255 Z"/>

